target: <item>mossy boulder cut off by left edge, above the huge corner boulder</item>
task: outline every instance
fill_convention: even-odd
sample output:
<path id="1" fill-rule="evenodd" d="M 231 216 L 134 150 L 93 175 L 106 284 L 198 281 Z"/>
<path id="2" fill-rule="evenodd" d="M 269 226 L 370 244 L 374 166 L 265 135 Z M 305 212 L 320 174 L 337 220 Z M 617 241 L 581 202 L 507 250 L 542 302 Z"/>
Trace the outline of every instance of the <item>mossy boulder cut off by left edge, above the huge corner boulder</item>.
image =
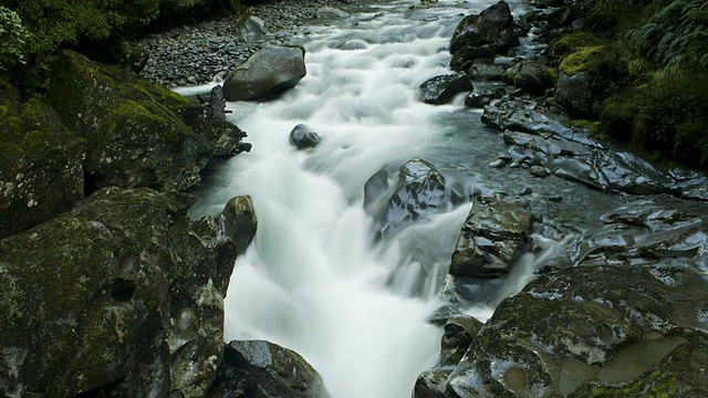
<path id="1" fill-rule="evenodd" d="M 45 103 L 20 102 L 0 81 L 0 239 L 69 210 L 84 197 L 84 140 Z"/>

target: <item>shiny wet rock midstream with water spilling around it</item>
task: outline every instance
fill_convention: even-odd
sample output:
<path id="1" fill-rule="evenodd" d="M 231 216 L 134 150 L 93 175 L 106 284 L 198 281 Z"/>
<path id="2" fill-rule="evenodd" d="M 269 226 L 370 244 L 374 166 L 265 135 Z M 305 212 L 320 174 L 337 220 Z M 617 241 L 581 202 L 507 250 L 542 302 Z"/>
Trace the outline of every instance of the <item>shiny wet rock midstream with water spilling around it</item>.
<path id="1" fill-rule="evenodd" d="M 377 172 L 366 182 L 364 195 L 364 206 L 383 226 L 384 237 L 394 234 L 410 221 L 447 210 L 449 199 L 445 177 L 429 163 L 421 159 L 406 163 L 392 188 L 387 179 L 385 171 Z"/>

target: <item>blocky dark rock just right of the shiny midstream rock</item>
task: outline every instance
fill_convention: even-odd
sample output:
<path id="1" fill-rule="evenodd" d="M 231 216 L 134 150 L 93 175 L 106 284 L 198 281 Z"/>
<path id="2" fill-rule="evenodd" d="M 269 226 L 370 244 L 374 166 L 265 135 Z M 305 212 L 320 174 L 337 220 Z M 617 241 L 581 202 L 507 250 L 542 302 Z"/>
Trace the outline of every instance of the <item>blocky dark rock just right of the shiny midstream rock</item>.
<path id="1" fill-rule="evenodd" d="M 450 274 L 473 277 L 504 275 L 523 251 L 531 213 L 498 199 L 477 198 L 457 239 Z"/>

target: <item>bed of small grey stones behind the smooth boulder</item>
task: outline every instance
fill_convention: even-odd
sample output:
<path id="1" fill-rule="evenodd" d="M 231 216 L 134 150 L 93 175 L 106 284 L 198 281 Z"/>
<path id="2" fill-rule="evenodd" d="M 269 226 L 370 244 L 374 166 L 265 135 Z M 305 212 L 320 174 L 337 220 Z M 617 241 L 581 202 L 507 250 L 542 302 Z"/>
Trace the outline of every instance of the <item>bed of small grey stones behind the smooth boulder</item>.
<path id="1" fill-rule="evenodd" d="M 226 74 L 266 45 L 288 44 L 306 29 L 322 7 L 347 9 L 374 0 L 275 0 L 251 8 L 263 20 L 266 35 L 249 40 L 239 29 L 242 15 L 176 28 L 144 38 L 138 44 L 150 54 L 140 75 L 167 87 L 209 83 Z"/>

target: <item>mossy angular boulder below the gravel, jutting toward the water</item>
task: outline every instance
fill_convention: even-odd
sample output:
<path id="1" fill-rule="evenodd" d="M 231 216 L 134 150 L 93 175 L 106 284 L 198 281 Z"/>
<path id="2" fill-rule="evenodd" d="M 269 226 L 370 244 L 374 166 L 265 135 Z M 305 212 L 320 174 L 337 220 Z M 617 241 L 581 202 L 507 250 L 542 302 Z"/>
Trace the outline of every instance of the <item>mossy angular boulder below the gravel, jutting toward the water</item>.
<path id="1" fill-rule="evenodd" d="M 216 156 L 228 155 L 244 134 L 205 117 L 194 101 L 64 51 L 54 65 L 50 104 L 84 137 L 90 190 L 118 187 L 185 189 Z"/>

